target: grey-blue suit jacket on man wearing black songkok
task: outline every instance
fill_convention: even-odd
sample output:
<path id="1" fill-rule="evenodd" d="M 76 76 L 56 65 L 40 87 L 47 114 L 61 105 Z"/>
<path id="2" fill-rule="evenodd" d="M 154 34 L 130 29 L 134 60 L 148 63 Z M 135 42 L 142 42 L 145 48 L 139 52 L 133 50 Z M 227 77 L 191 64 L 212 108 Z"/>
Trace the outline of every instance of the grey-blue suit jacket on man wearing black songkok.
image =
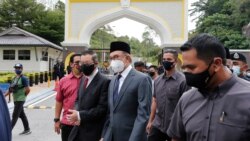
<path id="1" fill-rule="evenodd" d="M 105 123 L 104 141 L 146 141 L 150 115 L 151 78 L 132 69 L 125 78 L 116 103 L 113 104 L 114 76 L 109 85 L 109 119 Z"/>

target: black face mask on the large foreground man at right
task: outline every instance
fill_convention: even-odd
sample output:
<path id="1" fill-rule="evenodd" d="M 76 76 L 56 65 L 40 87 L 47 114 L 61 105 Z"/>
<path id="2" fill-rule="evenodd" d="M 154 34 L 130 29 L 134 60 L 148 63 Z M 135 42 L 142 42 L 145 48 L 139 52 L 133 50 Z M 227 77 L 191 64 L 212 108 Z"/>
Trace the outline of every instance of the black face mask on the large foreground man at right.
<path id="1" fill-rule="evenodd" d="M 205 71 L 203 71 L 201 73 L 192 74 L 189 72 L 184 72 L 185 77 L 186 77 L 186 81 L 187 81 L 187 85 L 192 86 L 192 87 L 196 87 L 198 89 L 206 89 L 209 81 L 211 80 L 211 78 L 215 74 L 215 72 L 212 75 L 209 74 L 208 70 L 210 68 L 210 65 L 208 66 L 208 68 Z"/>

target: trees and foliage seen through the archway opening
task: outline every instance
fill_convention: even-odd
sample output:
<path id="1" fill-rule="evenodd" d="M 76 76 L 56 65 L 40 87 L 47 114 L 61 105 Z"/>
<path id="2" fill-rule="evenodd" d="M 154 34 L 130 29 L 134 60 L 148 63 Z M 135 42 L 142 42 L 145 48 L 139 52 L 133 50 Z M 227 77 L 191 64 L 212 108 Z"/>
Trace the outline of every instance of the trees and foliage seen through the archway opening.
<path id="1" fill-rule="evenodd" d="M 157 55 L 161 52 L 159 46 L 153 40 L 155 31 L 149 27 L 142 33 L 143 40 L 140 41 L 134 37 L 120 36 L 116 37 L 114 31 L 109 26 L 103 26 L 97 29 L 90 40 L 90 46 L 94 49 L 109 49 L 112 41 L 124 41 L 131 47 L 134 57 L 140 57 L 145 62 L 157 64 Z"/>

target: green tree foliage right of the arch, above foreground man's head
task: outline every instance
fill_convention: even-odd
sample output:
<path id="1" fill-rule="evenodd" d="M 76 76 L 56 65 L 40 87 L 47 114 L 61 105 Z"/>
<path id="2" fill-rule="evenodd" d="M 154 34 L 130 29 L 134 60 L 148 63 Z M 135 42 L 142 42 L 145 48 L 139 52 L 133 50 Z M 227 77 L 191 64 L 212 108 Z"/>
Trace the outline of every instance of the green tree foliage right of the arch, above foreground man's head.
<path id="1" fill-rule="evenodd" d="M 193 6 L 191 15 L 201 13 L 194 35 L 210 33 L 228 48 L 250 48 L 250 40 L 242 32 L 250 22 L 250 0 L 199 0 Z"/>

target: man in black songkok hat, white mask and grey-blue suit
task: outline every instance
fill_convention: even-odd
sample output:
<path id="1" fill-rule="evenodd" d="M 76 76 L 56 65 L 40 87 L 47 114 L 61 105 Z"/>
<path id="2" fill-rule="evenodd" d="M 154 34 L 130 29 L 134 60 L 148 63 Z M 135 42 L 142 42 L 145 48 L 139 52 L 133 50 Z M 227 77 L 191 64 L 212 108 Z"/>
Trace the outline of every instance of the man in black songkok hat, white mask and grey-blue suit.
<path id="1" fill-rule="evenodd" d="M 109 119 L 104 141 L 146 141 L 146 125 L 152 98 L 151 78 L 132 68 L 130 47 L 124 42 L 110 46 L 111 68 L 117 74 L 109 86 Z"/>

